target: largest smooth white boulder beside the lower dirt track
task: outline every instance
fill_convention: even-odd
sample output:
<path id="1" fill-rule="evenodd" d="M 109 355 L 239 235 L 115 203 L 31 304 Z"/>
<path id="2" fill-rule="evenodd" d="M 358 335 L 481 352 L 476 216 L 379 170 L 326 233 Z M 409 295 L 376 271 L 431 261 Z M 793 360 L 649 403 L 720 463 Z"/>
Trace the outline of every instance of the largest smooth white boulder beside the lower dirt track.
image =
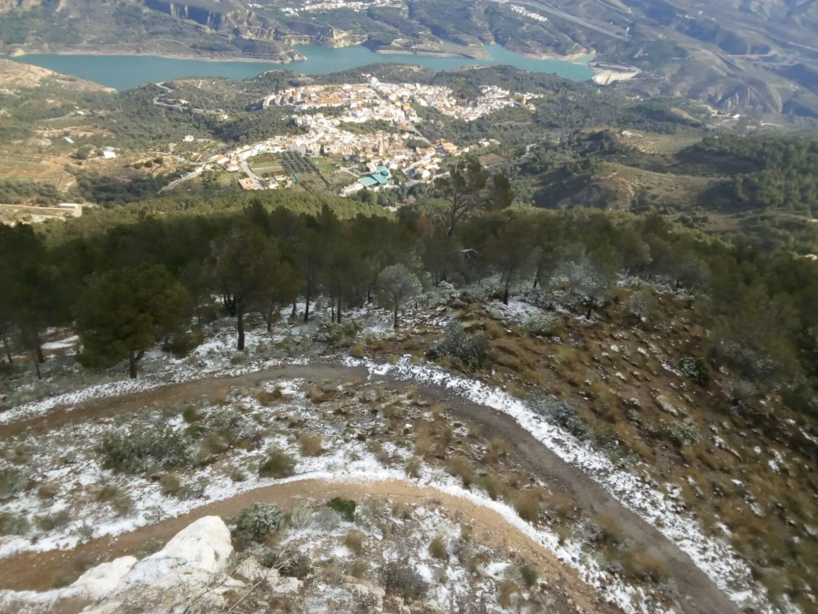
<path id="1" fill-rule="evenodd" d="M 137 562 L 119 581 L 118 592 L 134 585 L 171 588 L 204 584 L 222 571 L 233 552 L 230 530 L 218 516 L 206 516 L 179 531 L 158 553 Z"/>

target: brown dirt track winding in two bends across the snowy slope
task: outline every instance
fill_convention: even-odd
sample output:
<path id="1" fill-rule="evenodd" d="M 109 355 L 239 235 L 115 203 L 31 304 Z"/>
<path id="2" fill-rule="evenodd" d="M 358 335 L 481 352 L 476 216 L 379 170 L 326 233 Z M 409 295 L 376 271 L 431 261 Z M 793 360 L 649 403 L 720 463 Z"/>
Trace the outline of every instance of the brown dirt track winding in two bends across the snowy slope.
<path id="1" fill-rule="evenodd" d="M 205 396 L 219 395 L 229 390 L 232 386 L 256 386 L 263 381 L 279 378 L 303 378 L 310 381 L 341 381 L 350 379 L 366 379 L 369 377 L 365 368 L 348 368 L 342 365 L 317 363 L 310 365 L 290 365 L 276 367 L 248 373 L 238 377 L 217 377 L 199 381 L 189 381 L 182 384 L 164 386 L 163 388 L 124 395 L 121 397 L 95 400 L 86 404 L 81 404 L 74 409 L 55 409 L 45 416 L 31 418 L 29 420 L 12 422 L 0 426 L 0 437 L 7 437 L 19 434 L 26 428 L 35 431 L 49 431 L 65 422 L 82 422 L 89 419 L 102 418 L 116 413 L 137 412 L 146 407 L 154 405 L 176 403 L 183 400 L 195 400 Z M 373 376 L 373 382 L 388 387 L 405 388 L 406 381 L 398 381 L 390 377 Z M 686 614 L 739 614 L 739 607 L 733 603 L 726 594 L 717 589 L 716 585 L 695 566 L 694 562 L 679 549 L 676 544 L 667 540 L 653 526 L 643 521 L 635 513 L 623 508 L 616 499 L 608 494 L 599 484 L 587 476 L 577 467 L 565 463 L 551 450 L 547 449 L 539 441 L 534 439 L 528 431 L 515 422 L 514 418 L 499 413 L 494 409 L 488 409 L 479 404 L 473 404 L 463 400 L 461 397 L 452 394 L 442 388 L 429 386 L 415 386 L 418 391 L 429 398 L 445 402 L 448 411 L 457 419 L 479 425 L 485 433 L 492 436 L 501 436 L 506 439 L 511 447 L 510 453 L 515 460 L 528 472 L 540 477 L 551 485 L 552 489 L 561 490 L 569 494 L 573 499 L 581 503 L 585 508 L 596 513 L 613 518 L 619 529 L 627 539 L 636 547 L 647 549 L 655 558 L 666 563 L 672 579 L 676 582 L 679 592 L 679 602 Z M 384 492 L 375 491 L 384 485 Z M 232 499 L 212 503 L 183 517 L 164 521 L 155 526 L 137 530 L 133 534 L 120 535 L 117 541 L 103 538 L 94 540 L 90 544 L 80 546 L 70 552 L 50 552 L 50 553 L 24 553 L 14 558 L 0 560 L 0 588 L 9 589 L 47 589 L 50 588 L 51 580 L 61 570 L 65 570 L 66 562 L 69 559 L 78 557 L 87 547 L 103 548 L 106 554 L 119 556 L 130 549 L 139 549 L 146 539 L 153 536 L 169 538 L 184 526 L 187 526 L 196 517 L 208 514 L 231 514 L 238 512 L 251 500 L 271 498 L 272 500 L 290 499 L 294 494 L 299 494 L 300 490 L 307 485 L 307 482 L 294 482 L 291 485 L 273 485 L 267 488 L 250 491 Z M 311 495 L 304 492 L 306 496 L 332 496 L 333 492 L 349 493 L 350 488 L 357 489 L 371 494 L 393 495 L 400 499 L 412 500 L 411 497 L 433 497 L 443 499 L 443 495 L 436 490 L 431 490 L 434 494 L 419 493 L 415 487 L 401 482 L 376 483 L 364 488 L 362 485 L 338 485 L 321 484 L 315 485 L 316 494 Z M 324 493 L 318 494 L 318 491 Z M 348 496 L 348 495 L 347 495 Z M 450 510 L 461 509 L 469 516 L 482 514 L 483 517 L 490 517 L 492 513 L 484 508 L 476 509 L 474 504 L 462 499 L 452 498 L 454 501 L 447 502 Z M 281 501 L 281 503 L 286 503 Z M 451 503 L 451 507 L 449 505 Z M 465 509 L 471 507 L 475 509 Z M 498 526 L 512 529 L 506 521 L 494 514 L 497 518 L 488 521 L 489 530 L 496 531 Z M 499 523 L 499 524 L 498 524 Z M 155 531 L 155 533 L 153 532 Z M 519 534 L 521 535 L 521 534 Z M 106 547 L 101 546 L 103 542 L 110 542 Z M 131 543 L 133 541 L 133 544 Z M 529 540 L 525 540 L 528 548 L 534 548 Z M 542 551 L 542 557 L 550 557 L 554 561 L 553 555 Z M 556 563 L 559 566 L 559 563 Z M 563 570 L 564 575 L 567 571 Z M 600 611 L 600 606 L 592 607 L 591 611 Z"/>

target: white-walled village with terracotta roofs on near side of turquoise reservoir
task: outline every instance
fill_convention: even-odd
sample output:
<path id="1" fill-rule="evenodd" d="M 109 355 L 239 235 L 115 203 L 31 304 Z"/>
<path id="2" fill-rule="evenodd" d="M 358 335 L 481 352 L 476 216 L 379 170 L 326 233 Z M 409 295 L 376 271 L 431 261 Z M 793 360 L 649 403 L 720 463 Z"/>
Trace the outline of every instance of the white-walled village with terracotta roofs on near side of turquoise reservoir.
<path id="1" fill-rule="evenodd" d="M 533 111 L 530 100 L 534 97 L 484 85 L 474 101 L 463 102 L 443 86 L 381 83 L 374 77 L 366 84 L 287 88 L 263 97 L 254 109 L 263 113 L 271 106 L 292 107 L 291 120 L 301 128 L 298 135 L 278 135 L 225 151 L 193 174 L 218 168 L 240 174 L 239 183 L 245 189 L 277 189 L 299 183 L 296 171 L 300 169 L 330 183 L 316 162 L 326 159 L 335 174 L 347 178 L 334 187 L 342 196 L 363 187 L 432 181 L 443 173 L 445 158 L 470 151 L 470 147 L 461 149 L 452 142 L 425 138 L 421 108 L 472 121 L 508 106 Z M 373 125 L 378 129 L 367 130 Z M 475 145 L 488 147 L 492 142 Z"/>

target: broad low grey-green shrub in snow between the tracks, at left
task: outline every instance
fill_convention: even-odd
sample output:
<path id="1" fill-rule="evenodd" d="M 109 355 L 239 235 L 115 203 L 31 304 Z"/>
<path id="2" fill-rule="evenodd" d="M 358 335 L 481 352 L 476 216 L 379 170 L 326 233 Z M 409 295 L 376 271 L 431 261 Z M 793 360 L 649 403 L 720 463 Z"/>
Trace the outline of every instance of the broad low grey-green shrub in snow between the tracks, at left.
<path id="1" fill-rule="evenodd" d="M 131 427 L 128 432 L 103 436 L 97 450 L 102 467 L 126 473 L 142 473 L 149 467 L 189 467 L 193 462 L 191 441 L 173 427 Z"/>

